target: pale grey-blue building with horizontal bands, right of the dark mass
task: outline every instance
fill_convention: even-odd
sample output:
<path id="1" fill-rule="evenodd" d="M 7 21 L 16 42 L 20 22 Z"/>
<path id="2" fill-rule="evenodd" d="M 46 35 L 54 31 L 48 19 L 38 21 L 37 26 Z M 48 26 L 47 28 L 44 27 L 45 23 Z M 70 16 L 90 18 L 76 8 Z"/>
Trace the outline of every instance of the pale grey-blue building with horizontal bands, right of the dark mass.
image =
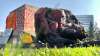
<path id="1" fill-rule="evenodd" d="M 84 29 L 89 33 L 90 37 L 93 37 L 94 29 L 94 17 L 93 15 L 76 15 L 77 19 L 84 26 Z"/>

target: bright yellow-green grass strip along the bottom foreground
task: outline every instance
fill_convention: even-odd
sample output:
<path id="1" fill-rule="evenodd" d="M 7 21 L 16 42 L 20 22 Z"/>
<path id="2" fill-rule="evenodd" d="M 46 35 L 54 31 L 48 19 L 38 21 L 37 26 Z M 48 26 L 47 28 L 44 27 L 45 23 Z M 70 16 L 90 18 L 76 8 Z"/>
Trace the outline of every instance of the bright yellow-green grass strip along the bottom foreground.
<path id="1" fill-rule="evenodd" d="M 6 46 L 0 56 L 100 56 L 100 47 L 20 48 Z"/>

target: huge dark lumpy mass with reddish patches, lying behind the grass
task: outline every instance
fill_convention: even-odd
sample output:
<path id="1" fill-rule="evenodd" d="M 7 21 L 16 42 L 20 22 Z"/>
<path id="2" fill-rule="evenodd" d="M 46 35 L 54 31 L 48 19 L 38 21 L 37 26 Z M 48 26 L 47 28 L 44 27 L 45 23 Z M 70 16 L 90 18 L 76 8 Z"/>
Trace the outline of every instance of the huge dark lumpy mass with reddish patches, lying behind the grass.
<path id="1" fill-rule="evenodd" d="M 69 10 L 40 8 L 35 14 L 37 42 L 49 47 L 73 45 L 86 38 L 84 27 Z"/>

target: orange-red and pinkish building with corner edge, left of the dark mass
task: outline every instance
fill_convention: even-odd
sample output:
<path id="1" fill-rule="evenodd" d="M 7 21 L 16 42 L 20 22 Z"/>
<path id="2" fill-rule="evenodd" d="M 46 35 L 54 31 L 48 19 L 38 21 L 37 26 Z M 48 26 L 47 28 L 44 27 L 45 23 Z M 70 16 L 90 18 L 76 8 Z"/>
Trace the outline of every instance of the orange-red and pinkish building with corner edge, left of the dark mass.
<path id="1" fill-rule="evenodd" d="M 37 8 L 31 5 L 23 5 L 9 13 L 6 19 L 6 29 L 13 28 L 20 32 L 35 34 L 34 14 Z"/>

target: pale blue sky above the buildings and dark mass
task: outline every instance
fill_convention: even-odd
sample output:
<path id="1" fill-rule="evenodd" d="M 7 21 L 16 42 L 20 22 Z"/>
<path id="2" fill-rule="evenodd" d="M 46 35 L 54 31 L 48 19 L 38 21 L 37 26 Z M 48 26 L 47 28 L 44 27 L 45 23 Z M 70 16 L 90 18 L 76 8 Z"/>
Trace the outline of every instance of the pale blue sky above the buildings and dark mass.
<path id="1" fill-rule="evenodd" d="M 0 31 L 5 30 L 9 12 L 23 4 L 37 8 L 64 8 L 72 11 L 74 15 L 93 15 L 100 28 L 100 0 L 0 0 Z"/>

